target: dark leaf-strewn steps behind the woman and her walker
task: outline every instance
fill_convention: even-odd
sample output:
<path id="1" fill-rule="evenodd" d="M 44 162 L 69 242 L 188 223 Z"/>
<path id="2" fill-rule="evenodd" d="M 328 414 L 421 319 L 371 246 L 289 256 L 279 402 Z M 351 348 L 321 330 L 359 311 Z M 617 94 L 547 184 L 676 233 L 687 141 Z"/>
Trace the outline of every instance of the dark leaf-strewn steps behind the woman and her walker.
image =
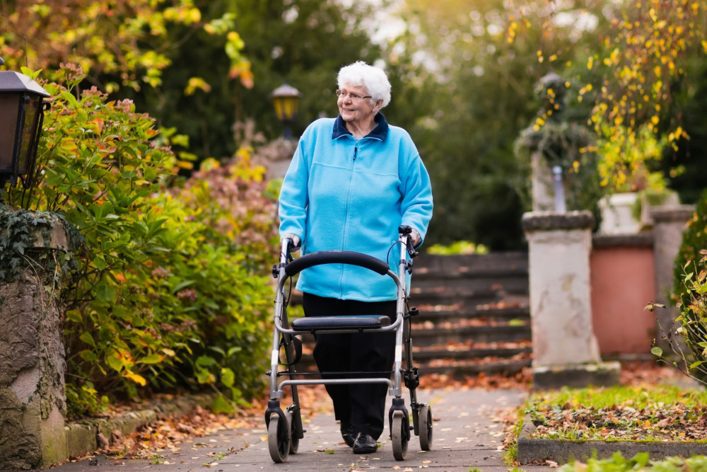
<path id="1" fill-rule="evenodd" d="M 421 374 L 515 374 L 532 360 L 527 253 L 426 255 L 414 260 L 413 359 Z M 297 304 L 294 294 L 291 303 Z M 315 370 L 302 335 L 299 372 Z"/>

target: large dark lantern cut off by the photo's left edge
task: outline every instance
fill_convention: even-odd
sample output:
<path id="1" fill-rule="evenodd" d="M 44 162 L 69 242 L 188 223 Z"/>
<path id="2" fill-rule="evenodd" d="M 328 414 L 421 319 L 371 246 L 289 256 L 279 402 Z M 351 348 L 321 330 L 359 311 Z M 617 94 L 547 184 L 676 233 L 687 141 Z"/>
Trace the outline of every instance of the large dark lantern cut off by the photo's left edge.
<path id="1" fill-rule="evenodd" d="M 0 190 L 6 183 L 13 187 L 18 178 L 24 188 L 32 185 L 47 97 L 29 76 L 0 71 Z"/>

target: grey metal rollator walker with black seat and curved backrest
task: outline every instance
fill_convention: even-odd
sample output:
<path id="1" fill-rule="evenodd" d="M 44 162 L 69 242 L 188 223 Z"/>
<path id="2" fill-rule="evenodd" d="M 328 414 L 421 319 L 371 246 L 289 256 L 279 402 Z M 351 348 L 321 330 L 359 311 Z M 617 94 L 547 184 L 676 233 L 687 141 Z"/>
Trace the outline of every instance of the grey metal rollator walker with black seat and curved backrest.
<path id="1" fill-rule="evenodd" d="M 272 338 L 272 355 L 270 370 L 270 401 L 265 410 L 265 424 L 268 432 L 268 449 L 272 460 L 276 463 L 285 462 L 289 454 L 296 454 L 299 441 L 304 437 L 302 427 L 300 404 L 297 387 L 300 385 L 317 384 L 386 384 L 388 394 L 392 396 L 392 406 L 388 411 L 390 423 L 390 440 L 393 456 L 398 461 L 405 459 L 410 432 L 420 438 L 420 448 L 429 451 L 432 448 L 432 409 L 426 403 L 419 403 L 416 388 L 419 386 L 418 368 L 412 362 L 412 340 L 410 336 L 411 318 L 418 311 L 409 308 L 406 275 L 412 273 L 412 261 L 418 253 L 411 242 L 412 229 L 409 226 L 400 226 L 398 273 L 395 274 L 388 267 L 388 263 L 370 255 L 351 251 L 320 251 L 303 255 L 294 259 L 290 255 L 292 241 L 288 238 L 281 243 L 280 261 L 273 266 L 273 277 L 279 279 L 275 297 L 275 317 Z M 390 253 L 395 246 L 391 248 Z M 397 318 L 394 323 L 388 316 L 366 315 L 360 316 L 311 316 L 296 318 L 291 325 L 287 319 L 288 296 L 285 294 L 285 283 L 299 272 L 322 264 L 349 264 L 365 267 L 377 272 L 382 277 L 391 277 L 397 286 Z M 395 359 L 392 371 L 388 372 L 324 372 L 327 379 L 320 377 L 317 372 L 296 372 L 295 364 L 301 356 L 301 341 L 297 335 L 304 333 L 363 333 L 366 331 L 394 331 L 395 332 Z M 403 367 L 403 350 L 405 346 L 405 367 Z M 280 360 L 280 350 L 285 352 L 285 362 Z M 284 366 L 279 370 L 279 366 Z M 357 378 L 350 379 L 346 376 L 356 374 Z M 374 375 L 378 374 L 378 377 Z M 387 374 L 381 377 L 381 374 Z M 337 378 L 341 376 L 342 378 Z M 280 377 L 287 377 L 281 381 Z M 391 380 L 392 377 L 392 380 Z M 410 391 L 410 407 L 412 410 L 412 425 L 410 415 L 405 408 L 402 398 L 402 385 Z M 289 386 L 292 393 L 292 405 L 286 410 L 280 407 L 280 398 L 284 398 L 284 387 Z"/>

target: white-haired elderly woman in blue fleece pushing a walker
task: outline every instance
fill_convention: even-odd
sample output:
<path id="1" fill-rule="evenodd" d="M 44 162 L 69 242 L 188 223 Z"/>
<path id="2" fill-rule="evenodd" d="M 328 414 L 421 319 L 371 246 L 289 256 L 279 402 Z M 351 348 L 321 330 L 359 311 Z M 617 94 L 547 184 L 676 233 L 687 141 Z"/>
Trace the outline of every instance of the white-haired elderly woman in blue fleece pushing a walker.
<path id="1" fill-rule="evenodd" d="M 338 84 L 339 116 L 305 130 L 285 176 L 280 234 L 295 246 L 301 241 L 303 254 L 356 251 L 387 260 L 402 224 L 413 228 L 414 246 L 421 245 L 432 217 L 430 178 L 409 134 L 380 113 L 390 103 L 385 72 L 359 61 L 341 68 Z M 311 267 L 300 273 L 297 288 L 305 316 L 395 320 L 395 283 L 361 267 Z M 392 332 L 325 334 L 317 336 L 314 357 L 325 378 L 326 372 L 391 372 L 394 347 Z M 327 392 L 354 454 L 378 449 L 387 386 L 327 385 Z"/>

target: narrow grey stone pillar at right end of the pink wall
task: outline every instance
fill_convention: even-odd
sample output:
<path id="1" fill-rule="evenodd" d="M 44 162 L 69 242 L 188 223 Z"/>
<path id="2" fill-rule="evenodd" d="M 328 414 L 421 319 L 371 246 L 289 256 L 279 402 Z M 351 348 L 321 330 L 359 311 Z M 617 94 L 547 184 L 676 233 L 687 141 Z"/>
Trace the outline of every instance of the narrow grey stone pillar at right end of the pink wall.
<path id="1" fill-rule="evenodd" d="M 665 305 L 665 309 L 655 311 L 655 316 L 660 327 L 666 331 L 677 328 L 674 323 L 679 310 L 674 301 L 670 300 L 674 284 L 674 263 L 682 244 L 682 233 L 694 212 L 694 205 L 664 205 L 653 207 L 650 212 L 653 218 L 653 257 L 655 258 L 654 301 Z M 656 339 L 663 349 L 669 347 L 667 341 L 662 339 L 664 334 L 658 333 Z"/>

